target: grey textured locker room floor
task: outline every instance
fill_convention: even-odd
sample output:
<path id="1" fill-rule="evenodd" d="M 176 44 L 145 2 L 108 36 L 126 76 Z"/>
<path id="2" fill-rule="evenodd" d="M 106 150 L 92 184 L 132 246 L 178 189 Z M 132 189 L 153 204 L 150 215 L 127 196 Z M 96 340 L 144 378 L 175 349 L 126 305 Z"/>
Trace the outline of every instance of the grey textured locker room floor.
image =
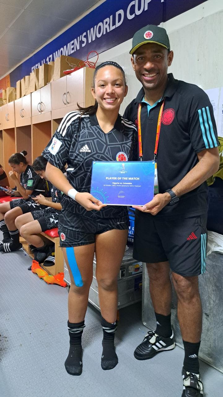
<path id="1" fill-rule="evenodd" d="M 181 397 L 183 350 L 137 361 L 133 351 L 147 329 L 141 306 L 120 310 L 116 336 L 119 364 L 100 366 L 100 315 L 88 307 L 83 333 L 83 373 L 66 373 L 69 347 L 67 289 L 47 285 L 27 270 L 24 251 L 0 254 L 0 397 Z M 205 397 L 222 396 L 223 375 L 201 363 Z"/>

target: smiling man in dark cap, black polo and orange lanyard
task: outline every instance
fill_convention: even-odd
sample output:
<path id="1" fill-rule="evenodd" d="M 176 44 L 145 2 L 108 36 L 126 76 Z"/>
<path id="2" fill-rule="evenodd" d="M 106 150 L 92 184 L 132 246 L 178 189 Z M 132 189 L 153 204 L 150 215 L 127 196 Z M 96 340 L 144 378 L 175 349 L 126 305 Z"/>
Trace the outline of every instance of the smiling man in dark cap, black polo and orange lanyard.
<path id="1" fill-rule="evenodd" d="M 138 126 L 138 159 L 156 160 L 157 174 L 153 200 L 135 207 L 133 249 L 133 257 L 146 262 L 157 327 L 134 356 L 146 360 L 175 347 L 171 270 L 185 348 L 182 397 L 198 397 L 203 395 L 198 275 L 206 270 L 206 179 L 219 167 L 213 108 L 202 89 L 167 74 L 173 51 L 165 29 L 148 25 L 137 31 L 130 54 L 142 89 L 124 117 Z"/>

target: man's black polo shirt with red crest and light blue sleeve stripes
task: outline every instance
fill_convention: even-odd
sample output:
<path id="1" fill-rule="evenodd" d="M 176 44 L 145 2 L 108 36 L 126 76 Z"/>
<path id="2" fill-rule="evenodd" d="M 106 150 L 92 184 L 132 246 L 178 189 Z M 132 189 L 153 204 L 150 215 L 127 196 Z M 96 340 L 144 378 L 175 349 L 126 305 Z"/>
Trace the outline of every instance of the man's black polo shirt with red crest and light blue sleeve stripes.
<path id="1" fill-rule="evenodd" d="M 153 160 L 156 130 L 161 104 L 165 99 L 161 120 L 158 154 L 160 193 L 173 188 L 198 163 L 197 153 L 218 146 L 213 108 L 208 95 L 194 84 L 174 79 L 168 74 L 162 100 L 150 109 L 142 102 L 144 89 L 127 106 L 124 117 L 137 125 L 138 104 L 142 102 L 141 130 L 143 160 Z M 202 214 L 208 208 L 208 185 L 202 183 L 183 195 L 173 206 L 167 205 L 156 216 Z"/>

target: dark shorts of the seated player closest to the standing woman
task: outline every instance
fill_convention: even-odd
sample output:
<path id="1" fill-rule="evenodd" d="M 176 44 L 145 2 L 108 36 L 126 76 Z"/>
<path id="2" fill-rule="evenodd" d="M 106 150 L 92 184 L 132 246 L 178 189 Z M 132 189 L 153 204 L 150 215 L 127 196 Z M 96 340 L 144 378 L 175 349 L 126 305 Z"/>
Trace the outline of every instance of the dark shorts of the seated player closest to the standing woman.
<path id="1" fill-rule="evenodd" d="M 53 208 L 46 208 L 44 210 L 31 211 L 31 214 L 34 220 L 38 220 L 42 231 L 58 227 L 60 211 L 57 212 Z"/>

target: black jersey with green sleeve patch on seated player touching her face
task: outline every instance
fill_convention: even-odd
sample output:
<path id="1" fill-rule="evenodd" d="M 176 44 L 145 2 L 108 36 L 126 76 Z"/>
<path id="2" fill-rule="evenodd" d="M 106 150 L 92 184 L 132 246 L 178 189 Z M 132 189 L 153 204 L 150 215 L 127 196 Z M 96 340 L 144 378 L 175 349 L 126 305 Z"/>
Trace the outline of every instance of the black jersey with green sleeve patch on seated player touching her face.
<path id="1" fill-rule="evenodd" d="M 31 166 L 27 165 L 25 171 L 20 174 L 20 183 L 24 189 L 33 191 L 31 196 L 35 197 L 39 194 L 45 196 L 46 182 L 35 173 Z"/>

